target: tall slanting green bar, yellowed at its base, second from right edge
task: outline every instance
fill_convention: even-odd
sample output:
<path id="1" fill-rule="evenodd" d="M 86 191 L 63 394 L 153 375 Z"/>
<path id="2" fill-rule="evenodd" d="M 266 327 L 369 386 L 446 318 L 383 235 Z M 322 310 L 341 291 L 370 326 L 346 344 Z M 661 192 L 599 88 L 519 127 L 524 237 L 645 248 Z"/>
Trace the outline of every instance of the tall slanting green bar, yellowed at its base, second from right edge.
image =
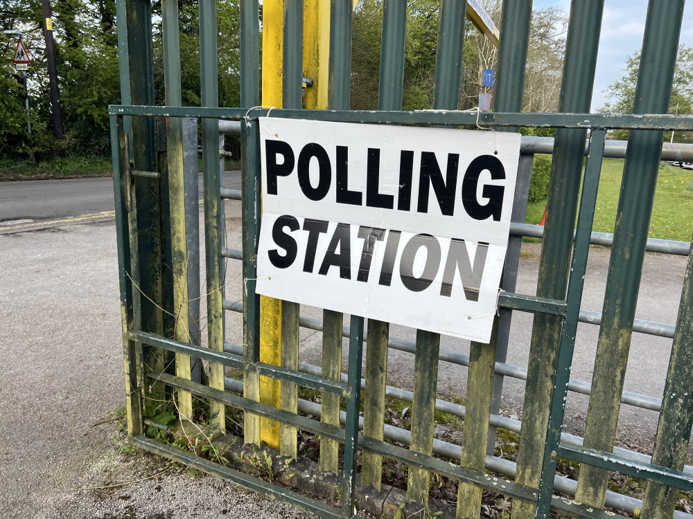
<path id="1" fill-rule="evenodd" d="M 633 113 L 667 113 L 682 13 L 683 0 L 649 2 Z M 651 130 L 629 136 L 585 428 L 588 448 L 613 448 L 663 136 Z M 608 471 L 582 465 L 577 499 L 601 507 L 607 482 Z"/>

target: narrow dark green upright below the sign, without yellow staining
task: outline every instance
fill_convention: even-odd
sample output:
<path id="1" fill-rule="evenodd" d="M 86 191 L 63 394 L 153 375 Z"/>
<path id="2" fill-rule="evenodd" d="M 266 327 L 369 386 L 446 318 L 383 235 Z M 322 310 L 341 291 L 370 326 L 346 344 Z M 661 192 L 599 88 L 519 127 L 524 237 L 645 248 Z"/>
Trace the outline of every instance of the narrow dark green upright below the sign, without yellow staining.
<path id="1" fill-rule="evenodd" d="M 349 336 L 349 375 L 347 420 L 344 422 L 344 481 L 342 482 L 342 518 L 356 516 L 356 451 L 358 450 L 358 410 L 361 397 L 361 361 L 363 358 L 363 318 L 351 316 Z"/>

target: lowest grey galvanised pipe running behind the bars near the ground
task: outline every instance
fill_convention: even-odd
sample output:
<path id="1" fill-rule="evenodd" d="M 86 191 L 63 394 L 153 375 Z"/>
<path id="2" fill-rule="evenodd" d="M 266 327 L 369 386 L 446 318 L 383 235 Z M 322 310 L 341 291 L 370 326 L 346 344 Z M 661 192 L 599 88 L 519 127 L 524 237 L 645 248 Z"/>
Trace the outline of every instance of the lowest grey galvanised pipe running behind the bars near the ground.
<path id="1" fill-rule="evenodd" d="M 242 381 L 237 381 L 235 379 L 227 378 L 225 380 L 225 388 L 228 391 L 233 391 L 236 393 L 243 394 L 243 382 Z M 300 412 L 305 412 L 306 415 L 312 415 L 314 417 L 320 417 L 321 406 L 319 403 L 311 402 L 311 401 L 304 400 L 304 399 L 299 399 L 298 408 L 299 408 Z M 347 413 L 344 411 L 340 411 L 340 423 L 344 424 L 346 419 L 347 419 Z M 362 418 L 360 418 L 358 421 L 358 428 L 359 429 L 363 428 L 363 419 Z M 398 441 L 399 443 L 402 443 L 402 444 L 407 444 L 407 445 L 409 444 L 409 441 L 411 438 L 411 432 L 408 430 L 385 424 L 384 432 L 385 432 L 385 438 L 387 438 L 387 439 L 390 439 L 392 441 Z M 566 443 L 572 443 L 572 442 L 566 441 Z M 580 445 L 581 443 L 576 442 L 575 444 Z M 625 452 L 622 452 L 622 451 L 625 451 Z M 626 451 L 625 449 L 615 448 L 613 452 L 615 454 L 617 453 L 617 454 L 628 455 L 627 453 L 629 451 Z M 443 441 L 441 439 L 433 439 L 433 453 L 440 455 L 440 456 L 448 457 L 450 459 L 459 459 L 459 457 L 462 455 L 462 448 L 459 445 L 450 444 L 448 441 Z M 637 454 L 637 453 L 633 453 L 633 454 Z M 645 456 L 645 455 L 641 455 L 641 456 L 642 456 L 642 459 L 638 459 L 638 461 L 649 462 L 649 459 L 650 459 L 649 456 Z M 498 473 L 503 474 L 503 475 L 507 475 L 508 477 L 516 477 L 517 465 L 514 462 L 509 461 L 508 459 L 502 459 L 500 457 L 495 457 L 495 456 L 486 456 L 486 468 L 489 469 L 490 471 L 498 472 Z M 684 471 L 686 473 L 693 473 L 693 467 L 685 466 Z M 574 495 L 575 491 L 577 490 L 577 482 L 575 480 L 570 480 L 568 477 L 556 475 L 556 477 L 554 477 L 554 490 L 566 493 L 568 495 Z M 633 511 L 635 511 L 635 508 L 642 509 L 642 501 L 635 499 L 635 498 L 631 498 L 629 495 L 622 495 L 619 493 L 608 491 L 607 495 L 606 495 L 606 506 L 615 508 L 617 510 L 625 511 L 628 513 L 633 513 Z M 688 513 L 684 513 L 681 511 L 674 512 L 674 519 L 691 519 L 691 518 L 693 518 L 693 515 L 690 515 Z"/>

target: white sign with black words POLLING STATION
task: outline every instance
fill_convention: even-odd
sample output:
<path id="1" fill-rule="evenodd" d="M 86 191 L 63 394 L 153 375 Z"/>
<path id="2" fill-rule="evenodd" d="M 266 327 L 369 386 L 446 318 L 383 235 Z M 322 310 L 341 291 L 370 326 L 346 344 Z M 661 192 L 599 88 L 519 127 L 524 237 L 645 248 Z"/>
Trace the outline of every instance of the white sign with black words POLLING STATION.
<path id="1" fill-rule="evenodd" d="M 256 291 L 488 343 L 520 135 L 260 118 Z"/>

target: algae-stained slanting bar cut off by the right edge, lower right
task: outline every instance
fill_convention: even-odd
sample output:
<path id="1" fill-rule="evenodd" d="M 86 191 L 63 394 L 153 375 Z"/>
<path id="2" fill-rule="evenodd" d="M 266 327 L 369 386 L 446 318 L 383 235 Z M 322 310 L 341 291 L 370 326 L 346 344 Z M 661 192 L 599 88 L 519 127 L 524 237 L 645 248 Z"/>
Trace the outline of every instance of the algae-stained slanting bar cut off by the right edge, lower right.
<path id="1" fill-rule="evenodd" d="M 669 360 L 667 384 L 659 415 L 652 463 L 683 471 L 693 426 L 693 254 L 688 255 L 678 306 L 676 333 Z M 648 482 L 642 500 L 642 517 L 670 518 L 679 494 L 669 486 Z"/>

